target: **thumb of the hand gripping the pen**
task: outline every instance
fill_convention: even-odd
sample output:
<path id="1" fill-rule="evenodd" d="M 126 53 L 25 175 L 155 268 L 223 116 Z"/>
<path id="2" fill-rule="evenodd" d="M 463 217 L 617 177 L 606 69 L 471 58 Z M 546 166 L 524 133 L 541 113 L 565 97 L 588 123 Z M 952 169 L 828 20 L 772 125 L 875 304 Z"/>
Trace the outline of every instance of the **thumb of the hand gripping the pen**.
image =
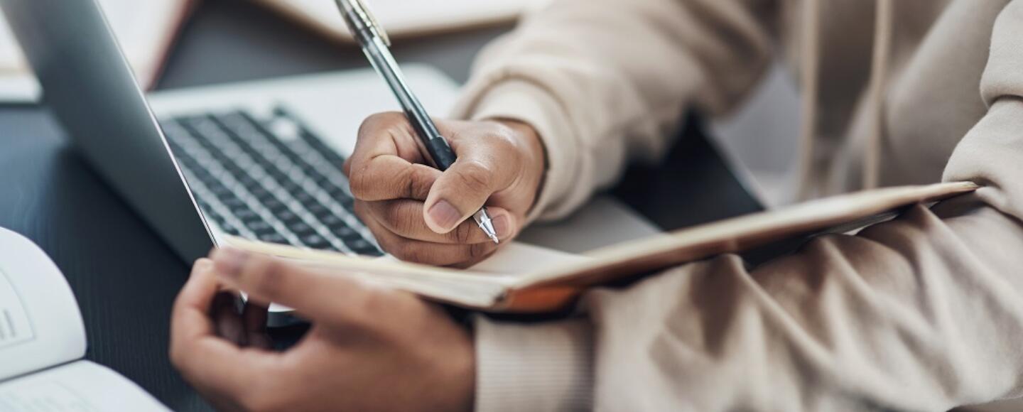
<path id="1" fill-rule="evenodd" d="M 490 139 L 485 144 L 459 145 L 458 159 L 436 179 L 427 196 L 424 219 L 433 231 L 454 230 L 483 208 L 491 194 L 515 181 L 519 167 L 501 154 L 514 150 L 510 144 Z"/>

